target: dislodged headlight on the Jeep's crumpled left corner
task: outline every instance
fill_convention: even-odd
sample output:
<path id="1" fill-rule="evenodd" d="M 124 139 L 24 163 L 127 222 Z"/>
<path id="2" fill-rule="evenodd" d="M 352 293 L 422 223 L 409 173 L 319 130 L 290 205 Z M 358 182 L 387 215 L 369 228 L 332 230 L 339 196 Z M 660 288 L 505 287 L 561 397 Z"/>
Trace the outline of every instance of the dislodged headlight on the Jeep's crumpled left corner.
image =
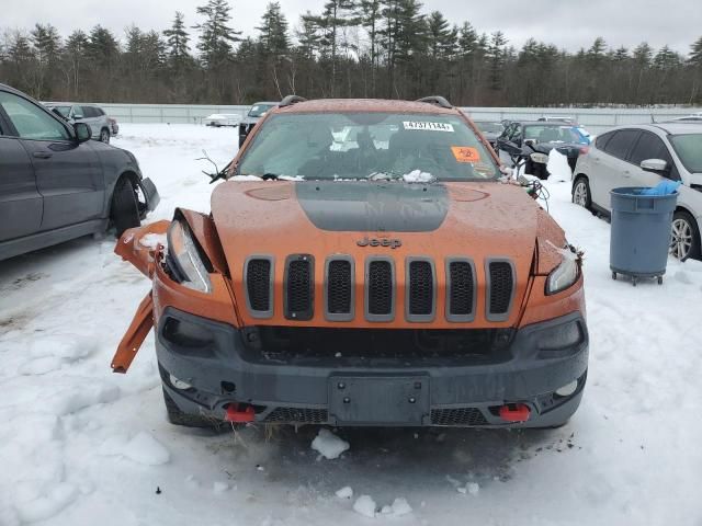
<path id="1" fill-rule="evenodd" d="M 168 229 L 168 260 L 174 266 L 174 277 L 183 286 L 201 293 L 212 291 L 210 273 L 200 256 L 192 232 L 180 220 L 171 222 Z"/>

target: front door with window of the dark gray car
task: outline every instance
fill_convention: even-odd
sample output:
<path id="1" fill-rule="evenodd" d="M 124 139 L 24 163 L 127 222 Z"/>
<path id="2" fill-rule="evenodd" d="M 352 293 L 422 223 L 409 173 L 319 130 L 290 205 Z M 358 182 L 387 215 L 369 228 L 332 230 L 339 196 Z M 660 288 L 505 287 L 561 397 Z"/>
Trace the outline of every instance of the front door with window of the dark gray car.
<path id="1" fill-rule="evenodd" d="M 41 230 L 101 218 L 105 184 L 92 144 L 79 144 L 58 117 L 18 94 L 0 92 L 0 105 L 34 167 L 44 203 Z"/>

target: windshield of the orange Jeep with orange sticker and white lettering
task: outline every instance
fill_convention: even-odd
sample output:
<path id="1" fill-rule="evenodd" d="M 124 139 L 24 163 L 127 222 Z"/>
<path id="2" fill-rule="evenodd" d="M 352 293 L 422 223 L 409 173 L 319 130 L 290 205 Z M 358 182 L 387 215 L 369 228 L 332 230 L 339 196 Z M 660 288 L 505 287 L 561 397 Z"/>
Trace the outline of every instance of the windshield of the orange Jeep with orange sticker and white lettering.
<path id="1" fill-rule="evenodd" d="M 460 116 L 396 113 L 273 115 L 245 152 L 239 174 L 414 181 L 500 175 Z"/>

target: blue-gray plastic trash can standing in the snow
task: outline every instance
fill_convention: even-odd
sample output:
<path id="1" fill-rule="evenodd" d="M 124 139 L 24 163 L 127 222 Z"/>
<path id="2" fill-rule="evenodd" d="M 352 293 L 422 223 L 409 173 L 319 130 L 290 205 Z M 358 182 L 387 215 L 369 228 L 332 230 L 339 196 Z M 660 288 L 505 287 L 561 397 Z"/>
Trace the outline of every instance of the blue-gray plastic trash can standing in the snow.
<path id="1" fill-rule="evenodd" d="M 610 192 L 612 233 L 610 268 L 612 279 L 618 274 L 631 276 L 634 286 L 642 277 L 656 277 L 663 284 L 666 273 L 672 214 L 678 193 L 643 195 L 647 188 L 625 187 Z"/>

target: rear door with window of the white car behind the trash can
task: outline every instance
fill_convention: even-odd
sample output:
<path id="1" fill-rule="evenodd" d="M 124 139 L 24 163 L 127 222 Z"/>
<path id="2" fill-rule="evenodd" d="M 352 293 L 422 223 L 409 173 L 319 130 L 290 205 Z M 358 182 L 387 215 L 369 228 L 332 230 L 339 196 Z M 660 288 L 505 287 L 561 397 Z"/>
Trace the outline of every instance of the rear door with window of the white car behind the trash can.
<path id="1" fill-rule="evenodd" d="M 633 128 L 619 129 L 604 145 L 604 150 L 596 155 L 593 171 L 597 179 L 590 182 L 590 192 L 596 205 L 611 210 L 610 192 L 621 186 L 635 186 L 632 181 L 632 165 L 626 160 L 641 130 Z"/>

